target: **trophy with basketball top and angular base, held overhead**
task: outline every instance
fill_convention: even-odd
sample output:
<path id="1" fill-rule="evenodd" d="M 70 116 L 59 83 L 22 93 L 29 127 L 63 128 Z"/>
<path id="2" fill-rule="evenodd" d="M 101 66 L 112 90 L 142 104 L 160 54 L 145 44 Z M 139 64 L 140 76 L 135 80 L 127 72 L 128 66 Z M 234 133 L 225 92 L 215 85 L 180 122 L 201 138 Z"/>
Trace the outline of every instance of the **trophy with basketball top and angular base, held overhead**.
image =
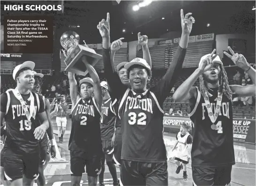
<path id="1" fill-rule="evenodd" d="M 66 31 L 60 37 L 60 45 L 67 51 L 62 49 L 66 57 L 64 60 L 67 65 L 65 71 L 85 76 L 88 70 L 82 61 L 82 56 L 85 56 L 86 60 L 94 66 L 102 58 L 102 55 L 89 48 L 84 41 L 85 45 L 79 45 L 79 40 L 79 35 L 75 31 Z"/>

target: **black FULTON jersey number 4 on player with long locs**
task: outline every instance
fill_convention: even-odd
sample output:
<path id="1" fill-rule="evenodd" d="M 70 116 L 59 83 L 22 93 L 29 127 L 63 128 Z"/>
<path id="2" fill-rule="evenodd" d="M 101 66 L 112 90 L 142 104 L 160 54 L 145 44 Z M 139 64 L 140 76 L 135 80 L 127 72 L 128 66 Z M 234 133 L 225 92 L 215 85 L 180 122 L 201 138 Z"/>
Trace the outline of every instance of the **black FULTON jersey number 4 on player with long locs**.
<path id="1" fill-rule="evenodd" d="M 188 114 L 193 122 L 192 166 L 217 167 L 235 164 L 232 101 L 223 94 L 219 115 L 214 123 L 217 129 L 213 130 L 203 95 L 197 87 L 196 89 L 196 102 L 190 103 L 191 112 Z M 211 94 L 209 101 L 214 113 L 218 88 L 208 91 Z"/>

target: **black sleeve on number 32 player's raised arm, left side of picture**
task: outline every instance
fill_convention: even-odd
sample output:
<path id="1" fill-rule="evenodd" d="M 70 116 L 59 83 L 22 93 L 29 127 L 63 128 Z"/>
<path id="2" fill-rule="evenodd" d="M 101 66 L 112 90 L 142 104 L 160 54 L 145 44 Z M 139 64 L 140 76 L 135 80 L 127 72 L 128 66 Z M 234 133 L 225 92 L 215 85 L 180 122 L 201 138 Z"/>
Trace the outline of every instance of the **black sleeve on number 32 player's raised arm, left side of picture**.
<path id="1" fill-rule="evenodd" d="M 109 89 L 111 90 L 111 98 L 120 98 L 126 91 L 127 87 L 120 81 L 119 75 L 114 70 L 110 60 L 110 49 L 103 48 L 103 64 L 104 73 Z"/>

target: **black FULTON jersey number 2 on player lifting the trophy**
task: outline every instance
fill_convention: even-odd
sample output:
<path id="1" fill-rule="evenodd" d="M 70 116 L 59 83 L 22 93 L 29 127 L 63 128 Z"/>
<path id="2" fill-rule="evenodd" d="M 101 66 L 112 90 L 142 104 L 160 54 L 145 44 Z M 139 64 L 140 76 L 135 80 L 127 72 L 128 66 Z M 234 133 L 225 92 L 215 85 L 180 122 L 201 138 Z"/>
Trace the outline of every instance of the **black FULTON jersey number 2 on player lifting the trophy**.
<path id="1" fill-rule="evenodd" d="M 68 143 L 69 150 L 82 150 L 94 155 L 102 151 L 100 133 L 100 111 L 95 99 L 77 100 L 72 108 L 72 127 Z"/>

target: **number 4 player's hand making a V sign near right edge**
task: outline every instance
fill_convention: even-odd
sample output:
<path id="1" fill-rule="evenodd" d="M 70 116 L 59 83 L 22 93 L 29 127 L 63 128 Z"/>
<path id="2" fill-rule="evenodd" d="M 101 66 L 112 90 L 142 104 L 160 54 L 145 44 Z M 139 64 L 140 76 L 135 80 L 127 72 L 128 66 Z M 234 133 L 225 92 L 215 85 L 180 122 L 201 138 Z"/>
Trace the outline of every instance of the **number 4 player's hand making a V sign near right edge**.
<path id="1" fill-rule="evenodd" d="M 249 64 L 245 57 L 242 54 L 234 53 L 230 46 L 228 46 L 227 48 L 232 55 L 228 54 L 227 52 L 224 52 L 224 54 L 228 58 L 230 58 L 237 67 L 240 67 L 243 70 L 248 70 Z"/>

